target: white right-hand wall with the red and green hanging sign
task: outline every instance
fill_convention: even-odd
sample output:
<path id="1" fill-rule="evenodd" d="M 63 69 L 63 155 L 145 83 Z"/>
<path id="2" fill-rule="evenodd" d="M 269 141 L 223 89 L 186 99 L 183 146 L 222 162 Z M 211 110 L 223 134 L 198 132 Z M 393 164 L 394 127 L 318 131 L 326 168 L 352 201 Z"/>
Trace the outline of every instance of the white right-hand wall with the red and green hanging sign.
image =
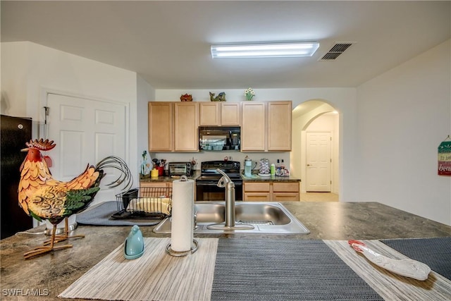
<path id="1" fill-rule="evenodd" d="M 451 225 L 437 147 L 451 128 L 450 40 L 357 88 L 356 195 Z"/>

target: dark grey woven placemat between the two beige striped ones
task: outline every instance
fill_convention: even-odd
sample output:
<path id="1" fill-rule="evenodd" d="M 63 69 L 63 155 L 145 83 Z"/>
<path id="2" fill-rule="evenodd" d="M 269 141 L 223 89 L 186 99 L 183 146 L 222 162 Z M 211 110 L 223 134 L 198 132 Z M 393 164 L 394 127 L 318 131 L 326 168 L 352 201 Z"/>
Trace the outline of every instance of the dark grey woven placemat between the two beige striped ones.
<path id="1" fill-rule="evenodd" d="M 321 240 L 219 240 L 211 300 L 383 300 Z"/>

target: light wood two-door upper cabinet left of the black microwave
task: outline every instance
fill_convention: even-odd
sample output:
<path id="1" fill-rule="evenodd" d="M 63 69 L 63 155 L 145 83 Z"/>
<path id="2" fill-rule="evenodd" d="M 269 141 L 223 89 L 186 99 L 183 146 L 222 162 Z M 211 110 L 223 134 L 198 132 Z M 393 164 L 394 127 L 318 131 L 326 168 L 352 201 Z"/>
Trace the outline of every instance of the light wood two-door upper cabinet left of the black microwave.
<path id="1" fill-rule="evenodd" d="M 197 152 L 199 103 L 149 102 L 149 152 Z"/>

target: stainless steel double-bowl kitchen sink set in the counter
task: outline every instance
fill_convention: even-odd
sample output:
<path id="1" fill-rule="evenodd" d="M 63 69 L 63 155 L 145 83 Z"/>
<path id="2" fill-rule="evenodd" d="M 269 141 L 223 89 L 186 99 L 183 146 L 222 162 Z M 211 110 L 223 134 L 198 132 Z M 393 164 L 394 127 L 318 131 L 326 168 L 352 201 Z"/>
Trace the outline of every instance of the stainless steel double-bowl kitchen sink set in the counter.
<path id="1" fill-rule="evenodd" d="M 194 233 L 310 233 L 309 229 L 278 202 L 235 202 L 235 224 L 245 223 L 254 226 L 248 230 L 207 228 L 209 225 L 225 222 L 225 202 L 196 202 L 194 212 L 196 213 Z M 161 221 L 154 228 L 154 233 L 171 233 L 171 216 Z"/>

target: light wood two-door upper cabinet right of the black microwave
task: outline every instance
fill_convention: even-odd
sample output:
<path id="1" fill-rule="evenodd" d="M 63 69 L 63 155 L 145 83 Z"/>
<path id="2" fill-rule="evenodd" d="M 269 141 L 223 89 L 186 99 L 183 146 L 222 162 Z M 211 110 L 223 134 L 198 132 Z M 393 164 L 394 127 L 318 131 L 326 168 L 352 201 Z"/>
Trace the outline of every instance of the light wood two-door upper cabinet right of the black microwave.
<path id="1" fill-rule="evenodd" d="M 291 150 L 292 102 L 242 102 L 242 152 Z"/>

